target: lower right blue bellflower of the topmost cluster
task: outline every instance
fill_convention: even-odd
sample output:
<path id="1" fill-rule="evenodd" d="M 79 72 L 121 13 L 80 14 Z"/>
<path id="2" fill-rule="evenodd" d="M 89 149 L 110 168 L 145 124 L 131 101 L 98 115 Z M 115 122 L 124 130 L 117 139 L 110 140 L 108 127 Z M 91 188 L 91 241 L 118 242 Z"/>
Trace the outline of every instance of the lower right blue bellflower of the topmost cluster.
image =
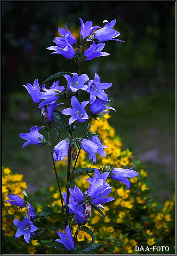
<path id="1" fill-rule="evenodd" d="M 84 56 L 86 56 L 86 60 L 94 59 L 100 56 L 110 55 L 109 53 L 102 51 L 104 48 L 104 45 L 105 43 L 96 44 L 95 42 L 93 42 L 84 53 Z"/>

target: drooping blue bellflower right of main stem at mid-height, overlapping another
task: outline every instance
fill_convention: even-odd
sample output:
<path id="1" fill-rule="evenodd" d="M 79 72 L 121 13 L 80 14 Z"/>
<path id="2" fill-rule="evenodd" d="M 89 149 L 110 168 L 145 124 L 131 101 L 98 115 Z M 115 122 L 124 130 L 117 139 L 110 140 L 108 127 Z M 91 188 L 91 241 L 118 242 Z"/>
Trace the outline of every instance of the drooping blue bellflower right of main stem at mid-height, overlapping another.
<path id="1" fill-rule="evenodd" d="M 93 159 L 93 162 L 96 162 L 96 155 L 95 153 L 98 152 L 99 146 L 93 143 L 90 140 L 81 140 L 81 149 L 84 150 L 86 153 L 89 154 L 89 160 Z M 93 164 L 92 162 L 92 164 Z"/>

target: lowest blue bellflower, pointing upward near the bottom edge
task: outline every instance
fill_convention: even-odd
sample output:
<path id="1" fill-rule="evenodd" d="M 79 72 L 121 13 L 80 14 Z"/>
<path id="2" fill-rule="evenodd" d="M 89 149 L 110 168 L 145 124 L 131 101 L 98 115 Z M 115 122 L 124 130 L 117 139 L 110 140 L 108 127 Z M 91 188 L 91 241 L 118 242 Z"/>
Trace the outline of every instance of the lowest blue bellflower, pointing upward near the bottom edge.
<path id="1" fill-rule="evenodd" d="M 56 239 L 55 241 L 63 244 L 65 248 L 69 251 L 73 250 L 74 248 L 74 241 L 73 241 L 73 236 L 72 236 L 72 231 L 70 232 L 69 225 L 66 226 L 65 228 L 65 234 L 61 231 L 57 231 L 58 236 L 61 239 Z"/>

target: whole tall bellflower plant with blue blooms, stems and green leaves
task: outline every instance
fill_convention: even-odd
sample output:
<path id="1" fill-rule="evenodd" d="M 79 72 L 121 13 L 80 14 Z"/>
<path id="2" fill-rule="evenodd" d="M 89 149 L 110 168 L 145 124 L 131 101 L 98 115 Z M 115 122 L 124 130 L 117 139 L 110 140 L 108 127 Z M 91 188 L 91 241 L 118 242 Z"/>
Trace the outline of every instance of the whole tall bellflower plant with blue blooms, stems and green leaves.
<path id="1" fill-rule="evenodd" d="M 33 126 L 30 128 L 30 133 L 21 133 L 19 136 L 26 140 L 22 147 L 28 144 L 47 145 L 50 148 L 51 159 L 56 175 L 58 190 L 60 194 L 61 208 L 55 212 L 51 207 L 45 206 L 45 209 L 35 214 L 30 195 L 22 191 L 23 199 L 15 194 L 7 195 L 8 203 L 19 206 L 19 209 L 27 208 L 27 215 L 22 221 L 14 220 L 14 225 L 18 228 L 15 238 L 24 235 L 24 239 L 29 243 L 30 238 L 37 240 L 44 253 L 46 252 L 45 245 L 55 247 L 62 253 L 95 253 L 99 248 L 107 247 L 105 244 L 95 243 L 95 235 L 92 230 L 87 227 L 93 209 L 103 216 L 101 209 L 106 209 L 104 204 L 113 201 L 114 198 L 109 194 L 112 187 L 106 182 L 107 179 L 121 181 L 130 188 L 130 182 L 127 178 L 132 178 L 138 175 L 133 170 L 116 168 L 116 165 L 103 166 L 97 168 L 82 167 L 75 169 L 81 151 L 85 151 L 89 159 L 92 159 L 92 164 L 96 163 L 96 153 L 102 157 L 106 157 L 104 151 L 107 148 L 104 141 L 100 142 L 99 136 L 96 133 L 88 130 L 91 120 L 98 120 L 101 116 L 107 114 L 107 109 L 112 109 L 106 106 L 110 101 L 108 94 L 104 90 L 110 88 L 112 83 L 103 82 L 98 74 L 94 77 L 88 77 L 87 74 L 81 74 L 81 68 L 84 61 L 94 59 L 96 57 L 108 56 L 107 52 L 102 51 L 106 41 L 115 40 L 124 42 L 117 37 L 120 35 L 118 31 L 113 29 L 116 20 L 106 23 L 104 27 L 92 27 L 92 22 L 87 21 L 85 24 L 81 18 L 81 30 L 79 38 L 75 39 L 65 24 L 65 29 L 58 27 L 60 36 L 55 37 L 53 42 L 55 46 L 49 46 L 47 49 L 52 50 L 51 54 L 60 54 L 65 58 L 72 59 L 77 64 L 77 73 L 73 72 L 58 72 L 51 75 L 48 79 L 39 85 L 35 79 L 33 86 L 27 83 L 24 87 L 27 89 L 33 102 L 37 104 L 38 109 L 44 119 L 44 124 L 41 127 Z M 45 82 L 64 76 L 65 85 L 59 85 L 59 81 L 54 81 L 50 88 Z M 47 89 L 48 88 L 48 89 Z M 64 97 L 66 98 L 67 106 L 62 105 Z M 63 107 L 62 111 L 56 109 L 58 105 Z M 57 123 L 57 125 L 55 124 Z M 74 136 L 74 130 L 77 129 L 77 123 L 83 125 L 83 134 Z M 67 137 L 60 133 L 60 127 L 64 127 Z M 47 139 L 40 133 L 43 129 L 47 134 Z M 50 131 L 56 131 L 57 142 L 50 140 Z M 56 170 L 56 161 L 62 161 L 67 156 L 67 182 L 66 191 L 61 192 L 60 182 Z M 75 160 L 73 168 L 71 168 L 71 159 Z M 90 175 L 93 173 L 94 175 Z M 89 178 L 88 189 L 81 191 L 76 186 L 75 178 L 79 175 L 88 174 Z M 95 212 L 95 211 L 94 211 Z M 53 242 L 42 242 L 40 237 L 44 230 L 58 229 L 58 227 L 49 226 L 42 222 L 36 221 L 40 217 L 50 218 L 57 217 L 63 225 L 64 232 L 58 231 L 58 239 Z M 75 233 L 70 230 L 72 226 L 76 226 Z M 88 233 L 92 242 L 86 243 L 83 248 L 79 248 L 77 241 L 78 231 L 82 230 Z M 49 232 L 49 231 L 47 231 Z M 50 235 L 52 235 L 49 232 Z M 51 239 L 50 239 L 51 240 Z M 52 239 L 54 240 L 54 239 Z"/>

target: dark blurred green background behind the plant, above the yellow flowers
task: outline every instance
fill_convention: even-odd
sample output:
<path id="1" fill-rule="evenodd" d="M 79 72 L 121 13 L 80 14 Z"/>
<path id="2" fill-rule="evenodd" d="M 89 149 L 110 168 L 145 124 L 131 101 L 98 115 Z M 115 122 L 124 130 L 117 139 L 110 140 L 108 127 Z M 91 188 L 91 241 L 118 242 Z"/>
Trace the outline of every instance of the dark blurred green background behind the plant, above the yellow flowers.
<path id="1" fill-rule="evenodd" d="M 174 1 L 2 2 L 2 164 L 24 174 L 28 191 L 52 184 L 49 148 L 22 149 L 19 134 L 43 125 L 22 85 L 36 78 L 42 83 L 59 71 L 76 72 L 73 61 L 46 48 L 55 45 L 57 28 L 66 22 L 77 37 L 77 18 L 101 27 L 104 19 L 117 19 L 114 28 L 125 43 L 105 42 L 111 56 L 84 62 L 82 74 L 93 79 L 97 73 L 101 82 L 112 83 L 107 93 L 117 102 L 110 124 L 123 148 L 146 166 L 151 196 L 164 202 L 174 190 Z"/>

